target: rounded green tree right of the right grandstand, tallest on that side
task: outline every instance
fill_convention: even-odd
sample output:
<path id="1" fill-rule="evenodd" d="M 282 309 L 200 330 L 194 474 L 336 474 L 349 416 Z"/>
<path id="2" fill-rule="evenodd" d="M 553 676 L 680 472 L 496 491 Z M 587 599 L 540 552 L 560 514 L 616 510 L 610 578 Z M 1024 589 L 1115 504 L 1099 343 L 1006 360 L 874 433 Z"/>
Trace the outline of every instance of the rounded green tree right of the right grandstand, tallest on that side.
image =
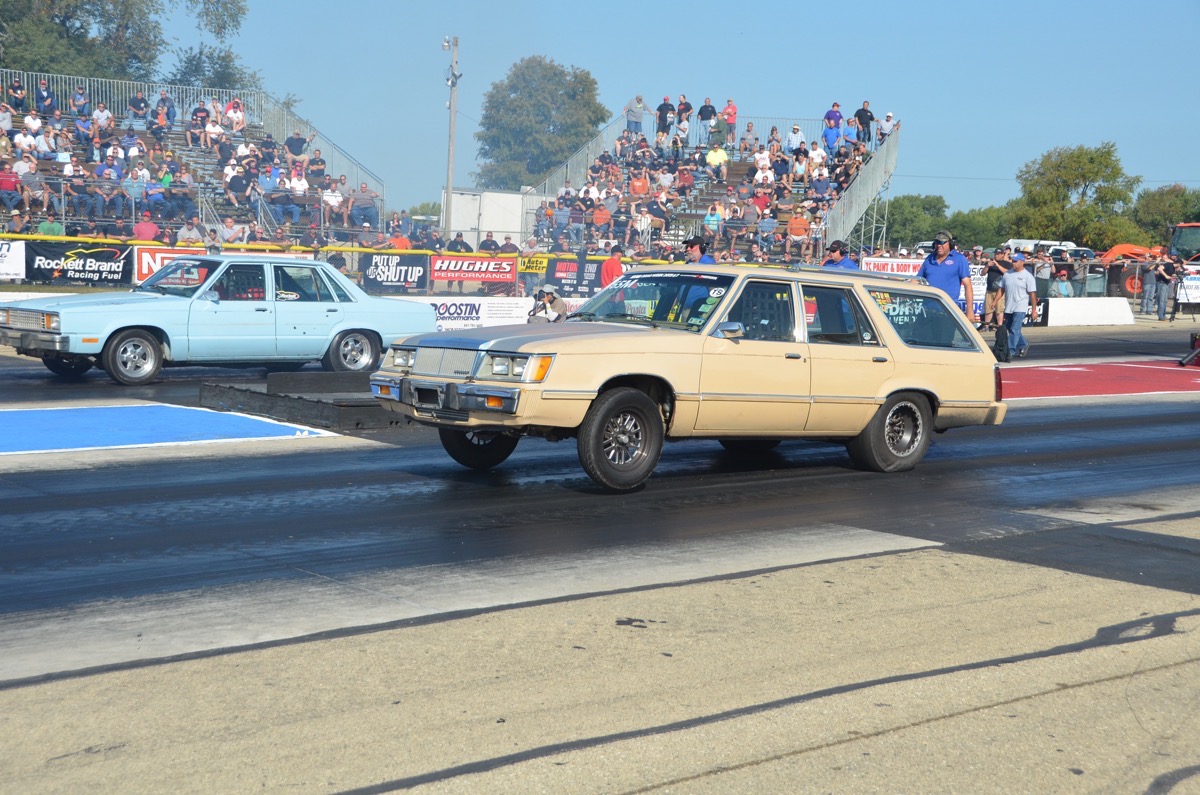
<path id="1" fill-rule="evenodd" d="M 1121 243 L 1117 221 L 1141 184 L 1121 167 L 1116 144 L 1057 147 L 1016 173 L 1021 198 L 1013 204 L 1014 237 L 1073 240 L 1093 249 Z"/>

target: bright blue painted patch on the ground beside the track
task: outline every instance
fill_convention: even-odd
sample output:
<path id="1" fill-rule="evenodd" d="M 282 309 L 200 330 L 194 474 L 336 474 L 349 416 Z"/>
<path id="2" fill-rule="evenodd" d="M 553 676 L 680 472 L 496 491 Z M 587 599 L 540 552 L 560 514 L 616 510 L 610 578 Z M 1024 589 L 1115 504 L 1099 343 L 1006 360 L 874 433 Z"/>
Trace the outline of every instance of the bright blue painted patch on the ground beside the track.
<path id="1" fill-rule="evenodd" d="M 158 404 L 0 411 L 0 455 L 330 435 L 258 417 Z"/>

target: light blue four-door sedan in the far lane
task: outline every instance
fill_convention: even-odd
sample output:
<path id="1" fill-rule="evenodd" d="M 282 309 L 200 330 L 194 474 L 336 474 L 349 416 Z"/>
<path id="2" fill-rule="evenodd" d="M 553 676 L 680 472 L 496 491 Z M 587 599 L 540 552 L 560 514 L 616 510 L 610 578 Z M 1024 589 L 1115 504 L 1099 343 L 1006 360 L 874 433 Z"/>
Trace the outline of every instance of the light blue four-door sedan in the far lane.
<path id="1" fill-rule="evenodd" d="M 119 384 L 163 366 L 373 371 L 392 340 L 432 331 L 427 303 L 376 298 L 324 262 L 182 256 L 128 293 L 0 305 L 0 343 L 60 376 L 103 367 Z"/>

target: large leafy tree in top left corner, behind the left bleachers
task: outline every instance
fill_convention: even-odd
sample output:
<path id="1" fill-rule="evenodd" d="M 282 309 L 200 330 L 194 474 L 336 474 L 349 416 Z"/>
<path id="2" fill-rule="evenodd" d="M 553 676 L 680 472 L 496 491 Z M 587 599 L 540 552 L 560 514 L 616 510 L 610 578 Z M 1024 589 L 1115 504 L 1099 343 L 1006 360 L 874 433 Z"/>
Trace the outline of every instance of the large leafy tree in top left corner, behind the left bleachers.
<path id="1" fill-rule="evenodd" d="M 235 34 L 246 16 L 246 0 L 4 0 L 0 64 L 18 71 L 154 80 L 166 49 L 161 19 L 179 6 L 202 34 L 216 38 Z"/>

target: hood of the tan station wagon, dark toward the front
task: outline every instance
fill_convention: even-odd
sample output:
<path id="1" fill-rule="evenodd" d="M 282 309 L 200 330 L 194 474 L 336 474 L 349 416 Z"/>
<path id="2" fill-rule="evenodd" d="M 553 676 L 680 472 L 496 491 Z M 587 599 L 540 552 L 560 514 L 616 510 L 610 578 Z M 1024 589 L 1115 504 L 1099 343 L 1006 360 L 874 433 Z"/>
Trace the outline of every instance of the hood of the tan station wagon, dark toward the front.
<path id="1" fill-rule="evenodd" d="M 463 351 L 520 351 L 528 353 L 638 353 L 695 348 L 702 336 L 673 328 L 653 328 L 629 323 L 529 323 L 491 325 L 478 329 L 419 334 L 403 341 L 436 348 Z"/>

